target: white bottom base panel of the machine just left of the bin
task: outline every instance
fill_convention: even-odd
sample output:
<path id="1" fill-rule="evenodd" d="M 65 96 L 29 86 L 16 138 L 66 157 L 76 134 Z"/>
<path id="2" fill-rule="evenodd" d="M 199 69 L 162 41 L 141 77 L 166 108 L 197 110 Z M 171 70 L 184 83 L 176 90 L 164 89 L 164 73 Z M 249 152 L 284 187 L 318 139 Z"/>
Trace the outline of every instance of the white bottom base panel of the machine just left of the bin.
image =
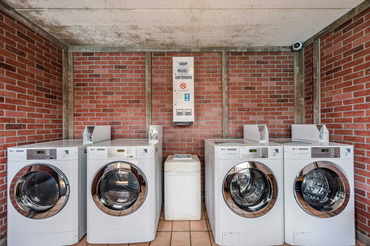
<path id="1" fill-rule="evenodd" d="M 140 243 L 154 238 L 154 227 L 140 230 L 87 230 L 88 243 Z"/>

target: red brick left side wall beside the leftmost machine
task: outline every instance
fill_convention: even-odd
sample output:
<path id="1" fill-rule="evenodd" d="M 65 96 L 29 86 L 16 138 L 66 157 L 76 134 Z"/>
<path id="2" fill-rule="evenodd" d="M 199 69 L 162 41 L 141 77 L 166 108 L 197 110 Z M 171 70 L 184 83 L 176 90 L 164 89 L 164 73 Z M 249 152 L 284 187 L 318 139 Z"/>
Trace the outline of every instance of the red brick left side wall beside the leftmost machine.
<path id="1" fill-rule="evenodd" d="M 0 11 L 0 233 L 7 147 L 62 138 L 62 51 Z"/>

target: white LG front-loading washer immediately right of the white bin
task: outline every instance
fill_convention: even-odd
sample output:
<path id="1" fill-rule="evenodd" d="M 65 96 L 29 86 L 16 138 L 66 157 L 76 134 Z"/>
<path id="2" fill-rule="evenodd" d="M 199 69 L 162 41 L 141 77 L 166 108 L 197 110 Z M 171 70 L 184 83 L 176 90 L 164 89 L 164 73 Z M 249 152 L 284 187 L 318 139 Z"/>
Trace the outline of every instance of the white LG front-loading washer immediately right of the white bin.
<path id="1" fill-rule="evenodd" d="M 282 245 L 283 146 L 205 139 L 205 204 L 218 245 Z"/>

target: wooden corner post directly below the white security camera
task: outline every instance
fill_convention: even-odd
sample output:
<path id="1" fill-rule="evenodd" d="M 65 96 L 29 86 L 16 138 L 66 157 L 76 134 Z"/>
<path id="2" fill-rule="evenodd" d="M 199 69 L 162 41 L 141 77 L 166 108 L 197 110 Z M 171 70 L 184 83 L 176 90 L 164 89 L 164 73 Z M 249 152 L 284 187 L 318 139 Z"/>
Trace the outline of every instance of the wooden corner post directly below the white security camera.
<path id="1" fill-rule="evenodd" d="M 305 123 L 304 51 L 294 52 L 294 124 Z"/>

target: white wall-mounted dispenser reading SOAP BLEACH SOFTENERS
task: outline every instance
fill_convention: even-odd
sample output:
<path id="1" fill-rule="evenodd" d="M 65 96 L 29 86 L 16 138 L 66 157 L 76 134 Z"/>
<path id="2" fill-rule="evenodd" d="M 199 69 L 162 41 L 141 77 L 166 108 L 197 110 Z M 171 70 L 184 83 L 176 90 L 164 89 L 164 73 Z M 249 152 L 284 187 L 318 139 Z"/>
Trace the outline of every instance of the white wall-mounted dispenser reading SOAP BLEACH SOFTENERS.
<path id="1" fill-rule="evenodd" d="M 172 57 L 174 124 L 194 123 L 194 57 Z"/>

